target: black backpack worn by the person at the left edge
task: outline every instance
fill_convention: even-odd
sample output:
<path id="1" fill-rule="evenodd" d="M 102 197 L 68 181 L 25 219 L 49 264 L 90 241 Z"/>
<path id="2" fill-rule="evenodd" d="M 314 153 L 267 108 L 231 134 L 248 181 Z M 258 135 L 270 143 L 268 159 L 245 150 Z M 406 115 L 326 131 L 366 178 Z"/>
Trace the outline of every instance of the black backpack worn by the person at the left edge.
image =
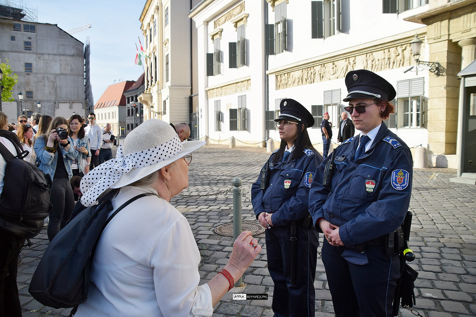
<path id="1" fill-rule="evenodd" d="M 0 195 L 0 228 L 30 239 L 43 229 L 43 221 L 50 211 L 51 177 L 23 160 L 28 151 L 12 144 L 17 156 L 0 142 L 0 154 L 7 160 Z"/>

